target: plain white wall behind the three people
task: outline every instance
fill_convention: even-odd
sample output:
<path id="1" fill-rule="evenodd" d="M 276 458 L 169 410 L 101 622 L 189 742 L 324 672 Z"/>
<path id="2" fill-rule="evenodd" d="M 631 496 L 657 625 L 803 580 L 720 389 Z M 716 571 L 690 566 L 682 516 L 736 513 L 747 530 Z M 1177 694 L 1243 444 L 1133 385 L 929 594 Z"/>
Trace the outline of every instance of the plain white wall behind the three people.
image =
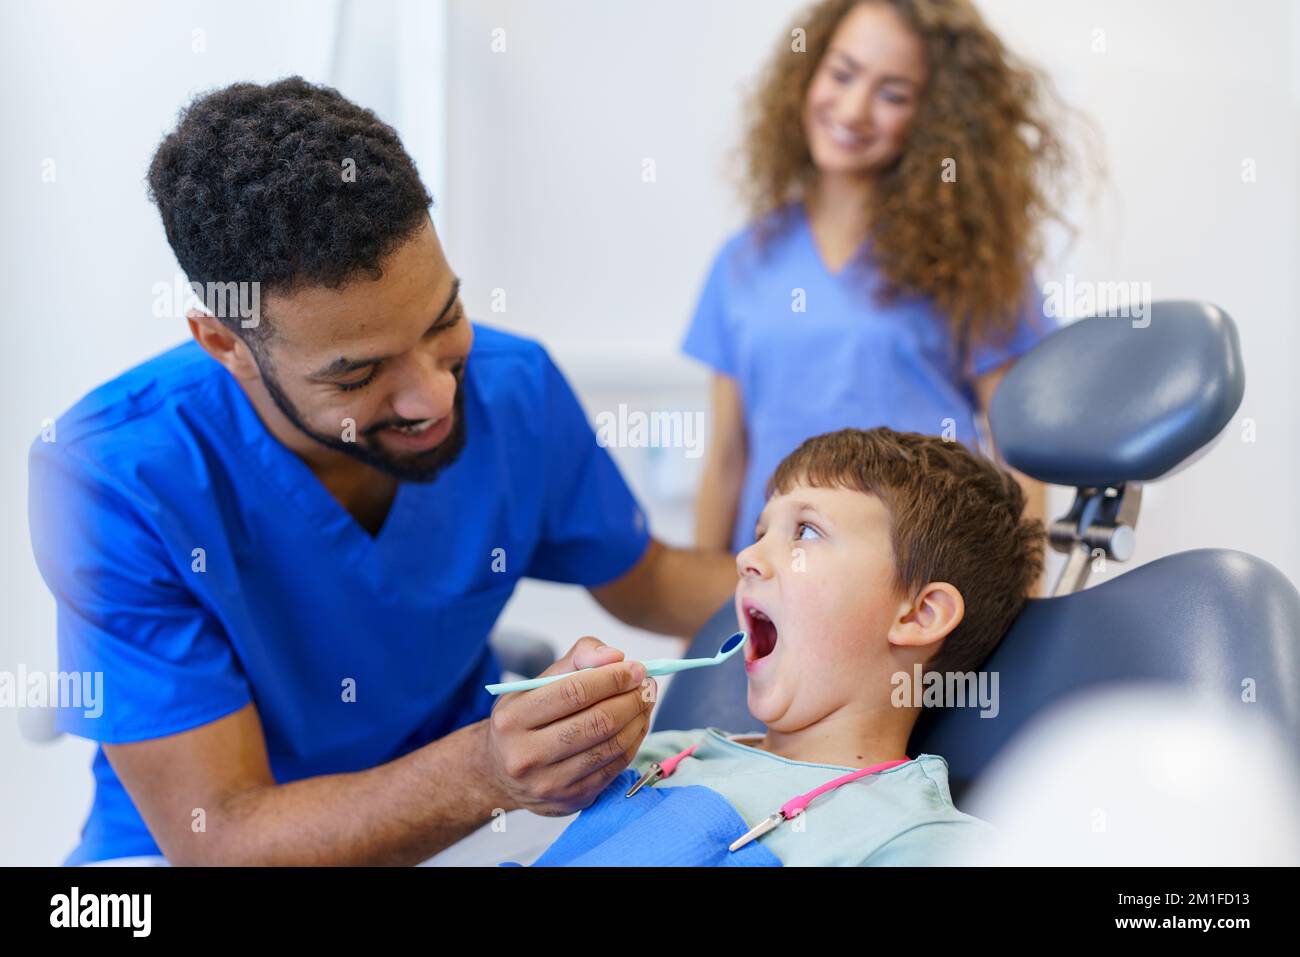
<path id="1" fill-rule="evenodd" d="M 143 177 L 177 109 L 204 88 L 299 72 L 394 122 L 438 202 L 471 315 L 543 339 L 589 412 L 624 400 L 705 410 L 676 355 L 705 268 L 740 225 L 727 151 L 742 86 L 798 4 L 780 0 L 92 0 L 0 8 L 0 670 L 55 664 L 53 606 L 30 558 L 26 450 L 40 421 L 174 342 L 151 289 L 176 264 Z M 1300 17 L 1286 0 L 985 0 L 992 23 L 1098 121 L 1110 191 L 1045 278 L 1149 281 L 1238 321 L 1238 423 L 1209 456 L 1148 489 L 1138 560 L 1217 545 L 1300 580 L 1294 264 Z M 1248 16 L 1245 10 L 1248 9 Z M 364 10 L 364 12 L 363 12 Z M 443 35 L 443 22 L 446 33 Z M 339 30 L 339 25 L 343 29 Z M 491 52 L 504 30 L 506 52 Z M 207 49 L 191 48 L 192 30 Z M 1093 30 L 1106 52 L 1092 52 Z M 446 64 L 442 61 L 443 51 Z M 443 163 L 443 153 L 446 161 Z M 57 163 L 55 183 L 42 161 Z M 644 159 L 658 182 L 641 182 Z M 1242 183 L 1243 157 L 1258 182 Z M 504 289 L 507 312 L 490 291 Z M 618 450 L 651 524 L 685 541 L 698 460 Z M 1058 505 L 1065 498 L 1057 495 Z M 662 648 L 581 592 L 528 585 L 504 623 L 566 646 L 595 633 Z M 87 742 L 21 741 L 0 710 L 0 863 L 52 862 L 90 798 Z"/>

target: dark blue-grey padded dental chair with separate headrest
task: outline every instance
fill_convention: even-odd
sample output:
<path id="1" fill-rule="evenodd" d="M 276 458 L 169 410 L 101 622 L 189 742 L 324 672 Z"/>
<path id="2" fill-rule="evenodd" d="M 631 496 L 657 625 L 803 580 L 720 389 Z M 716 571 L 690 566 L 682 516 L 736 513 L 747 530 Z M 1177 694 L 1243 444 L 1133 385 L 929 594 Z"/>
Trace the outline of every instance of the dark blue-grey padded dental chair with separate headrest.
<path id="1" fill-rule="evenodd" d="M 1152 303 L 1145 325 L 1078 320 L 1002 378 L 988 416 L 997 450 L 1075 499 L 1049 528 L 1067 555 L 1053 596 L 1028 599 L 983 666 L 998 672 L 998 714 L 928 709 L 918 720 L 909 753 L 944 755 L 954 800 L 1044 709 L 1115 683 L 1195 688 L 1261 709 L 1300 740 L 1300 593 L 1271 564 L 1195 549 L 1084 589 L 1096 564 L 1131 558 L 1141 486 L 1222 438 L 1244 386 L 1232 320 L 1196 302 Z M 727 602 L 685 657 L 711 655 L 736 628 Z M 703 727 L 763 729 L 740 658 L 680 672 L 664 690 L 655 731 Z"/>

